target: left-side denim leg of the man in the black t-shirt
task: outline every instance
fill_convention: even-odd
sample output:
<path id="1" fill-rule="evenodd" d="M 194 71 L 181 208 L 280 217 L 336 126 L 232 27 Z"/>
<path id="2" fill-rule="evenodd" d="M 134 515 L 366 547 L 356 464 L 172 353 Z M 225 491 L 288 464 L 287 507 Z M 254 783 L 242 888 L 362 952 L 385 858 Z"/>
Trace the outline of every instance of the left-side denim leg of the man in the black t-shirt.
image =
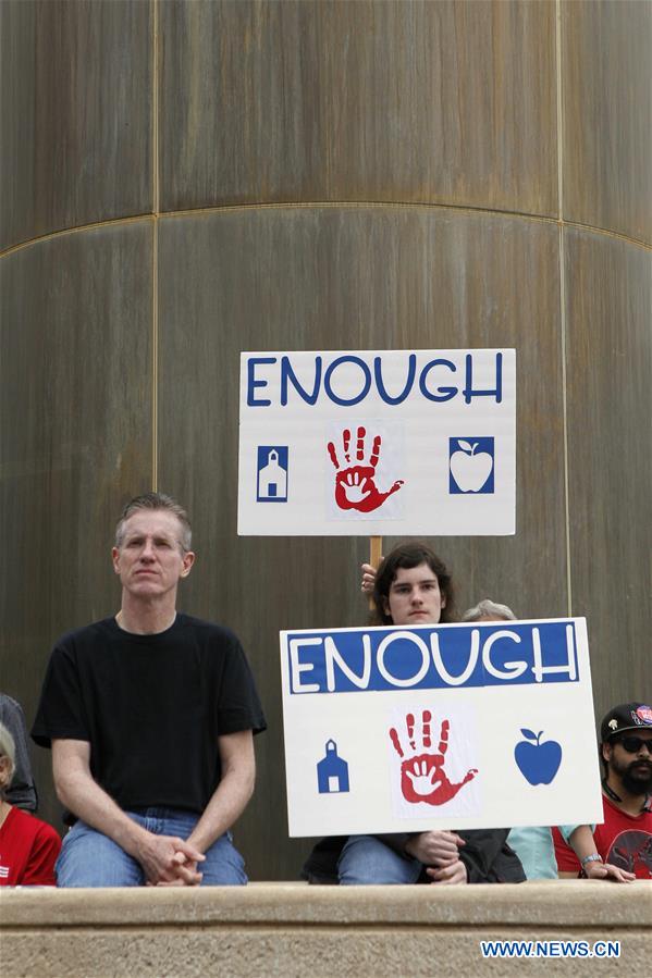
<path id="1" fill-rule="evenodd" d="M 132 816 L 133 818 L 134 816 Z M 54 867 L 58 887 L 142 887 L 143 868 L 108 835 L 77 821 Z"/>

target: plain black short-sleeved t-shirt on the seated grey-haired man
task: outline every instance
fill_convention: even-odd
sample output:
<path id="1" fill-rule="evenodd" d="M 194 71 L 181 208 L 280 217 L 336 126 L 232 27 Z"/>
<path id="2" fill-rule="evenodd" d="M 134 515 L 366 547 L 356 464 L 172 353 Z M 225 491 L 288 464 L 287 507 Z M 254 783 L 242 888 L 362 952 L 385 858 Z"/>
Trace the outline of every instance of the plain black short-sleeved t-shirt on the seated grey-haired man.
<path id="1" fill-rule="evenodd" d="M 90 771 L 121 808 L 206 808 L 218 738 L 266 729 L 254 678 L 229 629 L 187 615 L 155 635 L 114 618 L 54 646 L 32 736 L 90 743 Z"/>

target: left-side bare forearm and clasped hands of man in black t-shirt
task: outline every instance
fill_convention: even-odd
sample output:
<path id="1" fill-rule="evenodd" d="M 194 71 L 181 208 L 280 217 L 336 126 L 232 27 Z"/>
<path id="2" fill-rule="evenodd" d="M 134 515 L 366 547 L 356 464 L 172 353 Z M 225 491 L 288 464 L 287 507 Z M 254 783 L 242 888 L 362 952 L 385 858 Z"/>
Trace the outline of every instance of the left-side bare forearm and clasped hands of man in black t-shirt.
<path id="1" fill-rule="evenodd" d="M 204 855 L 192 843 L 148 832 L 132 821 L 95 781 L 88 741 L 52 740 L 52 773 L 62 804 L 133 856 L 143 866 L 148 882 L 200 881 L 196 864 L 204 861 Z"/>

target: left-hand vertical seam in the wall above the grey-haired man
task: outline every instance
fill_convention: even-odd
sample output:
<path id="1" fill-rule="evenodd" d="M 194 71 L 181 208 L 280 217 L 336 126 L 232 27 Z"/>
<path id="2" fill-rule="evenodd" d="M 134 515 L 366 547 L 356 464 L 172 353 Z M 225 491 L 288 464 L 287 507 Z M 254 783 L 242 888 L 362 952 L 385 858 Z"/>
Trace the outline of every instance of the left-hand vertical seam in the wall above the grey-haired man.
<path id="1" fill-rule="evenodd" d="M 159 487 L 159 0 L 152 0 L 151 487 Z"/>

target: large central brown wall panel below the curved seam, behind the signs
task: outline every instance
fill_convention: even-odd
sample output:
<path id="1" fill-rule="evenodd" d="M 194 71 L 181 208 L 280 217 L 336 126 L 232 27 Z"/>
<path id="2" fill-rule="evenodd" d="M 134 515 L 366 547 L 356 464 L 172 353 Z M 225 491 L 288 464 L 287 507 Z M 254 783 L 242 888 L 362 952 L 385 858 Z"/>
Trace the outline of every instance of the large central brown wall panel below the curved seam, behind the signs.
<path id="1" fill-rule="evenodd" d="M 308 849 L 286 840 L 279 629 L 361 623 L 368 543 L 236 536 L 239 351 L 515 346 L 517 535 L 433 544 L 462 608 L 490 595 L 524 616 L 565 614 L 556 235 L 542 222 L 417 208 L 161 222 L 159 482 L 197 529 L 186 607 L 241 635 L 270 721 L 236 833 L 255 879 L 295 878 Z"/>

